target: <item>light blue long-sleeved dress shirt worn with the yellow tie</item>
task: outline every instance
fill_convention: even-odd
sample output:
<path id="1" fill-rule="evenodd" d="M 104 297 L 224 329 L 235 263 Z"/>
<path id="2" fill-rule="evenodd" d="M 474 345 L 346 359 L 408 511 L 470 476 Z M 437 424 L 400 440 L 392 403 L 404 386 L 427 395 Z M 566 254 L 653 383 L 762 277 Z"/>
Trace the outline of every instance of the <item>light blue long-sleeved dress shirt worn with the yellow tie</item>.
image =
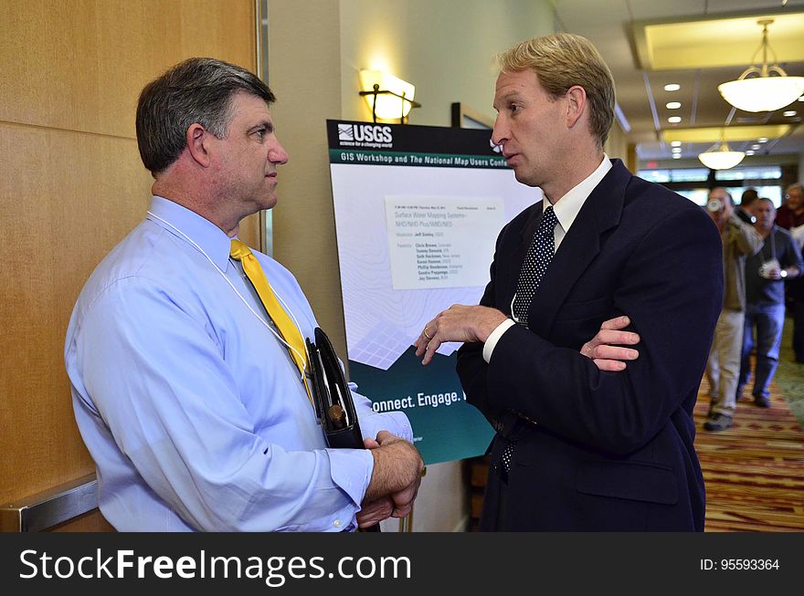
<path id="1" fill-rule="evenodd" d="M 373 458 L 326 448 L 229 246 L 216 225 L 154 196 L 81 291 L 65 362 L 100 510 L 122 531 L 353 529 Z M 254 254 L 311 338 L 317 323 L 296 279 Z M 365 437 L 412 440 L 404 413 L 354 401 Z"/>

